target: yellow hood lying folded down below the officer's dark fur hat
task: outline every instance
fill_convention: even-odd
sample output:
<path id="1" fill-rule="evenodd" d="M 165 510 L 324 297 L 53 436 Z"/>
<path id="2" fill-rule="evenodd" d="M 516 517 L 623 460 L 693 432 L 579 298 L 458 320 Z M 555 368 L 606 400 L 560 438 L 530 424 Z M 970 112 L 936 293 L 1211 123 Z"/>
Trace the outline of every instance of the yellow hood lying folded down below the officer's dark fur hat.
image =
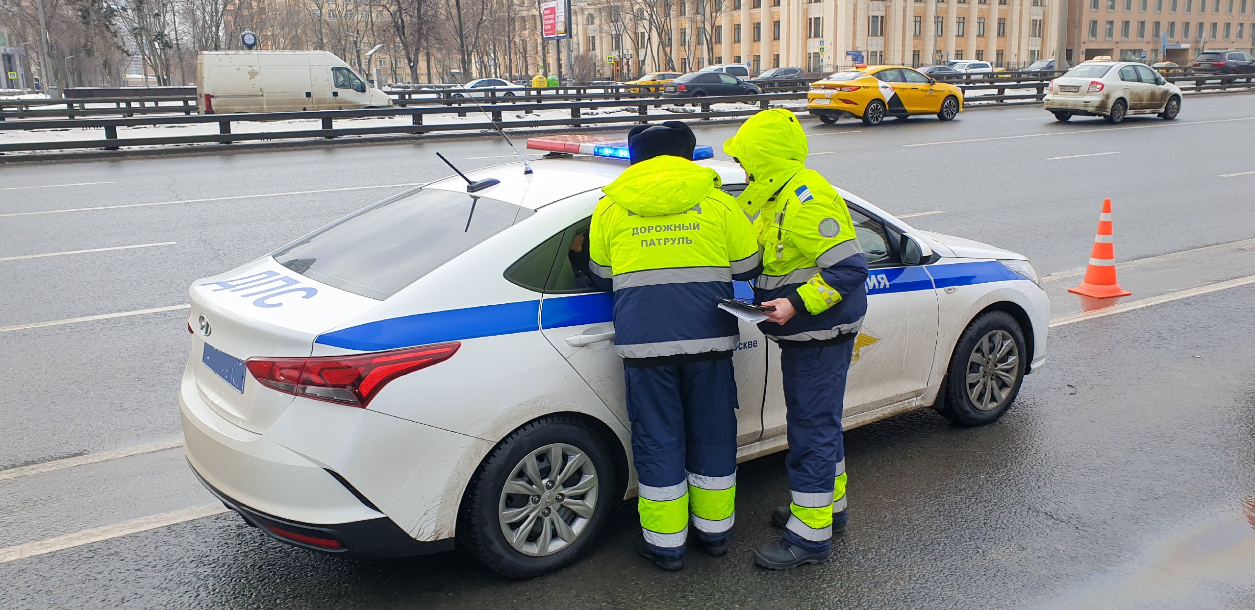
<path id="1" fill-rule="evenodd" d="M 692 210 L 719 186 L 714 169 L 663 156 L 629 166 L 601 192 L 633 213 L 661 216 Z"/>

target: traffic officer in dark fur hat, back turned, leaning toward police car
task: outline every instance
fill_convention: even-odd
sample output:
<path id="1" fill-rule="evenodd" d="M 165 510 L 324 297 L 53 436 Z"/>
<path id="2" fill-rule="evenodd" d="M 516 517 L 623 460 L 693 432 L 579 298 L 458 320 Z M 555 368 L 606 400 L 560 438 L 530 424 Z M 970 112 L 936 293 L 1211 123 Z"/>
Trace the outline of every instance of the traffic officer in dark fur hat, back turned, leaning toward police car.
<path id="1" fill-rule="evenodd" d="M 589 230 L 590 271 L 614 290 L 633 463 L 640 479 L 640 554 L 684 567 L 689 523 L 727 554 L 737 483 L 737 319 L 719 310 L 762 255 L 749 220 L 693 163 L 680 122 L 634 128 L 631 166 L 605 187 Z"/>

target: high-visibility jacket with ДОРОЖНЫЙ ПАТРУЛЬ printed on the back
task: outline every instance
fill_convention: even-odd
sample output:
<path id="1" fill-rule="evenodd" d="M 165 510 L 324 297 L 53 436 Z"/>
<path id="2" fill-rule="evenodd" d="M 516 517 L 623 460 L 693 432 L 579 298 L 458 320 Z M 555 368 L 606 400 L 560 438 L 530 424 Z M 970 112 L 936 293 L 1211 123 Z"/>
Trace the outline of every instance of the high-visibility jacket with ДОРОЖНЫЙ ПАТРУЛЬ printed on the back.
<path id="1" fill-rule="evenodd" d="M 749 220 L 719 186 L 714 169 L 663 156 L 602 188 L 589 267 L 614 290 L 620 356 L 723 358 L 737 349 L 737 319 L 718 301 L 733 296 L 734 279 L 758 275 L 762 256 Z"/>

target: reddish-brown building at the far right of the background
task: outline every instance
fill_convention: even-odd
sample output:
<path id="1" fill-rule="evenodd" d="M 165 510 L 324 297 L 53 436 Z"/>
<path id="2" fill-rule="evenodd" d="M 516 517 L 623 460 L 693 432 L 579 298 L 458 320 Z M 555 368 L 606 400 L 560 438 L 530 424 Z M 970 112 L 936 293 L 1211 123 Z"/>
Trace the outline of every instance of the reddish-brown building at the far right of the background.
<path id="1" fill-rule="evenodd" d="M 1255 46 L 1255 0 L 1071 0 L 1068 58 L 1186 64 Z"/>

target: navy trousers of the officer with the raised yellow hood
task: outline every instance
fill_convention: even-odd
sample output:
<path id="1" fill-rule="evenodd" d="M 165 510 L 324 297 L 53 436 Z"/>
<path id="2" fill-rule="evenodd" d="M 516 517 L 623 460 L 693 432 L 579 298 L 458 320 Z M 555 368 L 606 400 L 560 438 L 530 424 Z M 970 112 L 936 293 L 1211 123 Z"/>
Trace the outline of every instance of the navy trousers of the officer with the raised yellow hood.
<path id="1" fill-rule="evenodd" d="M 841 414 L 853 353 L 852 339 L 821 348 L 788 346 L 781 350 L 784 405 L 788 409 L 788 457 L 784 458 L 784 467 L 789 491 L 794 493 L 831 495 L 836 476 L 845 472 Z M 840 512 L 833 513 L 833 526 L 845 525 L 848 518 L 843 510 L 845 497 L 837 507 Z M 788 530 L 784 540 L 814 551 L 832 546 L 831 538 L 809 541 Z"/>

